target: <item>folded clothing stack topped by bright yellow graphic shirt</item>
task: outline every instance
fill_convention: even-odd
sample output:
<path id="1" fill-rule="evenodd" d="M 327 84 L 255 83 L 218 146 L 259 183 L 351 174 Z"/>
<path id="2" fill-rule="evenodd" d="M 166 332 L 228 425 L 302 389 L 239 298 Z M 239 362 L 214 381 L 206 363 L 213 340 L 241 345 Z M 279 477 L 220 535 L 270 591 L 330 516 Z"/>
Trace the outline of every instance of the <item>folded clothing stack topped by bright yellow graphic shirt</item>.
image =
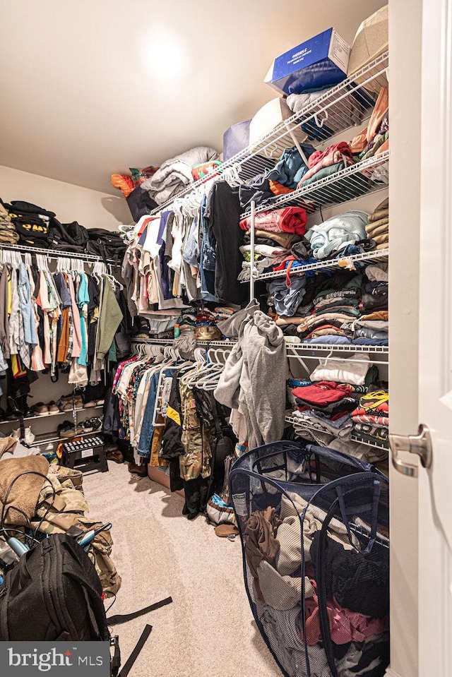
<path id="1" fill-rule="evenodd" d="M 388 390 L 371 390 L 359 398 L 352 411 L 353 437 L 367 444 L 388 446 L 389 393 Z"/>

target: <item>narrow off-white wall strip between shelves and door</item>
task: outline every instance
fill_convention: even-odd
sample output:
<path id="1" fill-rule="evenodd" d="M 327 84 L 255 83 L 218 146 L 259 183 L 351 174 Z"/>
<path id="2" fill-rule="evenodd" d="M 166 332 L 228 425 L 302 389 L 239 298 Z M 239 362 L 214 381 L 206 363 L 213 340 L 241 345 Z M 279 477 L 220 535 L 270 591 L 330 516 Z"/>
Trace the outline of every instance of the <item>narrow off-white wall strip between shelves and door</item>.
<path id="1" fill-rule="evenodd" d="M 391 433 L 417 431 L 422 0 L 390 2 Z M 391 669 L 416 677 L 417 480 L 390 468 Z"/>

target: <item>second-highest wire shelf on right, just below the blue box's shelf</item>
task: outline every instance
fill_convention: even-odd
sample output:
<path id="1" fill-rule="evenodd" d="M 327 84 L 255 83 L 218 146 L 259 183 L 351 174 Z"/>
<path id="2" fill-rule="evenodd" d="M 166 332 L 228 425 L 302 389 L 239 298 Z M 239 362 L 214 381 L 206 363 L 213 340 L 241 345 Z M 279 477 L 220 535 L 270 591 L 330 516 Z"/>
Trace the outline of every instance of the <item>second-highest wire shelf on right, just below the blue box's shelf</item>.
<path id="1" fill-rule="evenodd" d="M 271 205 L 271 209 L 280 207 L 302 207 L 308 213 L 316 212 L 322 207 L 340 205 L 348 200 L 355 200 L 363 195 L 388 188 L 387 165 L 389 151 L 368 157 L 367 160 L 352 164 L 331 176 L 314 181 L 313 184 L 297 188 L 292 193 L 285 193 Z M 268 211 L 268 205 L 256 206 L 256 214 Z M 251 215 L 244 212 L 240 219 Z M 257 226 L 258 227 L 258 226 Z"/>

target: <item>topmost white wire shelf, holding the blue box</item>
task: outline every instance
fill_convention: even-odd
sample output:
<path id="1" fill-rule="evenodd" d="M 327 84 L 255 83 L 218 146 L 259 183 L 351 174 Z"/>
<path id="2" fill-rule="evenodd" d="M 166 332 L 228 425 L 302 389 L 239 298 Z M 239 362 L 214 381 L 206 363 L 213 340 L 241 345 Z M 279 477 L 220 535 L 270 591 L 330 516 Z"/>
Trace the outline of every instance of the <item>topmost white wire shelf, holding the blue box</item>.
<path id="1" fill-rule="evenodd" d="M 302 110 L 281 122 L 272 131 L 258 139 L 254 144 L 236 153 L 218 167 L 217 172 L 194 181 L 162 205 L 150 212 L 158 214 L 171 207 L 176 200 L 203 188 L 210 179 L 217 176 L 228 179 L 233 172 L 236 179 L 246 183 L 254 176 L 272 169 L 280 159 L 285 148 L 308 140 L 319 145 L 328 138 L 353 126 L 363 126 L 371 115 L 376 95 L 365 89 L 366 85 L 386 85 L 388 52 L 371 61 L 367 66 L 353 74 L 335 87 L 326 90 Z M 378 87 L 377 87 L 378 88 Z"/>

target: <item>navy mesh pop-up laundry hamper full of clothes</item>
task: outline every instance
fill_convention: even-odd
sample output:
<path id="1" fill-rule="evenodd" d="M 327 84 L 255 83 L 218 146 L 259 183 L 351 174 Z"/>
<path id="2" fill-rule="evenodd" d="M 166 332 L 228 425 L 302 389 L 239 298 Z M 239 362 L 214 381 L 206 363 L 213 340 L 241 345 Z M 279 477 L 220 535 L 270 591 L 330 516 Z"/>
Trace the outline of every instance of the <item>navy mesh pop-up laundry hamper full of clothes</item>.
<path id="1" fill-rule="evenodd" d="M 234 464 L 230 493 L 261 634 L 287 677 L 382 677 L 389 662 L 388 480 L 309 443 Z"/>

